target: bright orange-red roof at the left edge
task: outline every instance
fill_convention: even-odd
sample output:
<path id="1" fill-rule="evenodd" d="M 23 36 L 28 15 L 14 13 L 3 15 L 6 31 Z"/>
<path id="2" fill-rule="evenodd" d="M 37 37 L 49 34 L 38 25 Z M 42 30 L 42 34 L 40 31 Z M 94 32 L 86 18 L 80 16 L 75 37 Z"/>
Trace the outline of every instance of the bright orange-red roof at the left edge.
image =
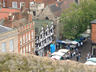
<path id="1" fill-rule="evenodd" d="M 0 20 L 4 18 L 8 18 L 9 13 L 20 12 L 18 9 L 9 9 L 9 8 L 2 8 L 0 9 Z"/>

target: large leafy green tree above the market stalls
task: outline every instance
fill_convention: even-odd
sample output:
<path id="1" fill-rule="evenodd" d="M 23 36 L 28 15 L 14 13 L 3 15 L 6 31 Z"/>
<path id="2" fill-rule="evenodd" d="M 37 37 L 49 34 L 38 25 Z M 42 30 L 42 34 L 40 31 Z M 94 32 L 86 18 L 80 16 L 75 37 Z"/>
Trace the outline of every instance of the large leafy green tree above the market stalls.
<path id="1" fill-rule="evenodd" d="M 85 32 L 90 21 L 96 19 L 96 1 L 81 0 L 80 4 L 73 4 L 70 9 L 62 13 L 60 22 L 63 24 L 63 37 L 77 38 Z"/>

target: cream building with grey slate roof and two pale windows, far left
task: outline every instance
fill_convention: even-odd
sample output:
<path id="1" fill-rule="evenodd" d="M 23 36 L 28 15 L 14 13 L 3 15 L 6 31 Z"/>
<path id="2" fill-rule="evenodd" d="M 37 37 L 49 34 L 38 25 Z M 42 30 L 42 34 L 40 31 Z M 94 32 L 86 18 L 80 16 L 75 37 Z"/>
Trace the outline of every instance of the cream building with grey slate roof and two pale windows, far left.
<path id="1" fill-rule="evenodd" d="M 18 53 L 18 31 L 0 25 L 0 52 Z"/>

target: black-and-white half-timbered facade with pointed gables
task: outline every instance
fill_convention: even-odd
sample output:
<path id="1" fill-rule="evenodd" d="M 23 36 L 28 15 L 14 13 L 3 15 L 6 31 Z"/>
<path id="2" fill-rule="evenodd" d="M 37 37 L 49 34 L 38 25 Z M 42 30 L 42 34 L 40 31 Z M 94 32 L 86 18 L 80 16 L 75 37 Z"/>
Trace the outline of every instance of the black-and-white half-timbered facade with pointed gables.
<path id="1" fill-rule="evenodd" d="M 46 26 L 41 25 L 41 28 L 39 28 L 40 30 L 38 35 L 36 34 L 35 36 L 36 37 L 35 51 L 38 51 L 38 54 L 40 56 L 46 56 L 47 52 L 50 52 L 50 44 L 52 43 L 52 41 L 54 41 L 54 24 L 53 22 L 49 22 L 49 23 L 50 25 L 47 23 Z"/>

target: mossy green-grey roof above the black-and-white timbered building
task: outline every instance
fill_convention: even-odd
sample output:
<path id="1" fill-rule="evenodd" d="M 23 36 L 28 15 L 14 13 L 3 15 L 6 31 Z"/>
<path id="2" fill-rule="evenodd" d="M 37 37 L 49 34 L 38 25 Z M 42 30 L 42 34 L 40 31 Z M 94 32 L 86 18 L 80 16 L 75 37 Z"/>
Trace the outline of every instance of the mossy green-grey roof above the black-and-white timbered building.
<path id="1" fill-rule="evenodd" d="M 35 32 L 38 35 L 41 31 L 41 28 L 46 28 L 47 25 L 50 27 L 53 21 L 50 20 L 33 20 L 35 22 Z"/>

